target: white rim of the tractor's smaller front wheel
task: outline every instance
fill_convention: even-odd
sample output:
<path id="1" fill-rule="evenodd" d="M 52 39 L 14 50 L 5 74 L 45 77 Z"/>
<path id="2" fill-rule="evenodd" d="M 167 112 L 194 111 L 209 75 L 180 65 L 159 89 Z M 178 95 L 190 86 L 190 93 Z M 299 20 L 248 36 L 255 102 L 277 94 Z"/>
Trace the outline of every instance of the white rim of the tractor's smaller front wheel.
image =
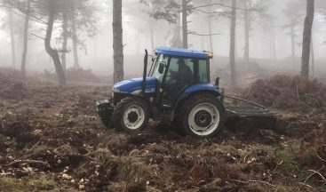
<path id="1" fill-rule="evenodd" d="M 123 113 L 123 123 L 131 130 L 137 130 L 145 121 L 145 111 L 139 105 L 132 105 Z"/>

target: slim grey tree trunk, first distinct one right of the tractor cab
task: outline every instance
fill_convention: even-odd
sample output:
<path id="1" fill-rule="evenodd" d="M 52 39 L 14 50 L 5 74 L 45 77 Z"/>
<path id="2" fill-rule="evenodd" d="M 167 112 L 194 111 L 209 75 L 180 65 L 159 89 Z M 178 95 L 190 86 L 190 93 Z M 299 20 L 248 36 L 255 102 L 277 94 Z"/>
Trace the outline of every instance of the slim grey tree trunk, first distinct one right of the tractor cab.
<path id="1" fill-rule="evenodd" d="M 231 88 L 236 89 L 235 74 L 235 22 L 236 22 L 236 0 L 232 0 L 232 17 L 230 31 L 230 69 L 231 69 Z"/>

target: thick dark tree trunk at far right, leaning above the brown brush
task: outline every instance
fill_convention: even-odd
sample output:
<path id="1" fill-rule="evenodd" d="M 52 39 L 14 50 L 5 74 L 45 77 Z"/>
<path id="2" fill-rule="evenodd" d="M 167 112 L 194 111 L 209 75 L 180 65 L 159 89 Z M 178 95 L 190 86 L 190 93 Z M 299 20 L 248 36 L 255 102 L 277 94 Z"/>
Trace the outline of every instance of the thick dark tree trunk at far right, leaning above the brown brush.
<path id="1" fill-rule="evenodd" d="M 309 78 L 309 59 L 312 28 L 314 23 L 314 0 L 306 0 L 306 19 L 302 41 L 301 76 Z"/>

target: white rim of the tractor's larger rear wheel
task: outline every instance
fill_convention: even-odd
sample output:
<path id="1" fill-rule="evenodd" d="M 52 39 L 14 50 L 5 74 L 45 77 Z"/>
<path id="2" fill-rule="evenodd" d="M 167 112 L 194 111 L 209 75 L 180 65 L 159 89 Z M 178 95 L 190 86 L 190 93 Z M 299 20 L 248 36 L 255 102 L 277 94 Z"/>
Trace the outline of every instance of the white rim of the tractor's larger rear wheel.
<path id="1" fill-rule="evenodd" d="M 207 136 L 219 127 L 219 110 L 211 103 L 201 103 L 188 116 L 190 130 L 196 135 Z"/>

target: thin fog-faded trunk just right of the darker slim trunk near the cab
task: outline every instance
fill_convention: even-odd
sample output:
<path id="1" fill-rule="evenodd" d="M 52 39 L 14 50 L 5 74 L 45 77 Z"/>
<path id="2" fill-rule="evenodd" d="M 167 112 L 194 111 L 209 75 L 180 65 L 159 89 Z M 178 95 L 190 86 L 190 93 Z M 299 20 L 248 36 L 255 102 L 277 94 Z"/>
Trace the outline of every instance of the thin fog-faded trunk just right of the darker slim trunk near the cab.
<path id="1" fill-rule="evenodd" d="M 244 9 L 248 10 L 248 1 L 243 1 Z M 250 6 L 249 6 L 250 7 Z M 249 34 L 250 33 L 250 12 L 244 11 L 244 52 L 243 52 L 243 60 L 245 68 L 248 68 L 249 64 Z"/>

